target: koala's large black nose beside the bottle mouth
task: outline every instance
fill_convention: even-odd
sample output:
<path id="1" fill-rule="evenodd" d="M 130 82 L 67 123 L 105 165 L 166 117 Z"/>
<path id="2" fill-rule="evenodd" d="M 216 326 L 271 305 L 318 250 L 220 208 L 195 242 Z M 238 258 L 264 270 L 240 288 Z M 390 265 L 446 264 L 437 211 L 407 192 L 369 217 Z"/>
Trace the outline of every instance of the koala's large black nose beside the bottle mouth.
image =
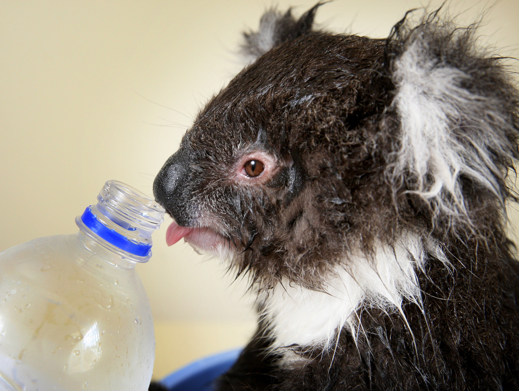
<path id="1" fill-rule="evenodd" d="M 175 219 L 176 224 L 193 224 L 193 157 L 181 148 L 162 166 L 153 183 L 156 201 Z"/>

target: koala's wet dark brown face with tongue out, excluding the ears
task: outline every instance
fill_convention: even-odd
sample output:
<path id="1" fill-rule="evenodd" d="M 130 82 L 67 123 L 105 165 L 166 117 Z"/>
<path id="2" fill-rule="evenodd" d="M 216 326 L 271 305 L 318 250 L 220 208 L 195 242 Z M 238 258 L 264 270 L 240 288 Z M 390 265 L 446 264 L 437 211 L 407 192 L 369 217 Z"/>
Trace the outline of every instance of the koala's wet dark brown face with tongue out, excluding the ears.
<path id="1" fill-rule="evenodd" d="M 265 270 L 317 276 L 341 257 L 348 230 L 358 235 L 372 213 L 380 187 L 372 176 L 386 159 L 377 145 L 391 142 L 378 131 L 391 122 L 384 47 L 309 34 L 245 68 L 157 176 L 157 200 L 179 226 L 170 244 L 184 237 L 231 253 L 240 270 L 262 278 Z"/>

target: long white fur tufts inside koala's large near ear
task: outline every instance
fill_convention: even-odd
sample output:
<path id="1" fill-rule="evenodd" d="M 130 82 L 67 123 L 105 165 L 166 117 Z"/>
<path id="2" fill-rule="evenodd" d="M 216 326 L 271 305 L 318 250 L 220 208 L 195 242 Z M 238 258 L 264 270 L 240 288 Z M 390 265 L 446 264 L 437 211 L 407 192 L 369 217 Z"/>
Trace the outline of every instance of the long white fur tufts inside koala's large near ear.
<path id="1" fill-rule="evenodd" d="M 402 134 L 393 175 L 414 174 L 416 193 L 429 200 L 436 213 L 466 218 L 460 175 L 502 199 L 499 179 L 505 174 L 493 156 L 512 158 L 503 131 L 512 125 L 493 97 L 462 87 L 471 76 L 432 53 L 428 29 L 414 33 L 394 62 L 398 92 L 393 104 Z M 455 36 L 454 30 L 449 34 Z"/>

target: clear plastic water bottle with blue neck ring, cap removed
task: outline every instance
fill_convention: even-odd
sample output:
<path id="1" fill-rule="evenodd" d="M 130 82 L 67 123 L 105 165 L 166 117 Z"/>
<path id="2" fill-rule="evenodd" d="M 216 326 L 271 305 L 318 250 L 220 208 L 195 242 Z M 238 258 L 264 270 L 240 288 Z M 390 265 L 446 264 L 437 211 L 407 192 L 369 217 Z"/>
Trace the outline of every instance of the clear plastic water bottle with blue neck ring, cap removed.
<path id="1" fill-rule="evenodd" d="M 108 181 L 79 232 L 0 254 L 0 390 L 147 390 L 153 320 L 134 270 L 163 208 Z"/>

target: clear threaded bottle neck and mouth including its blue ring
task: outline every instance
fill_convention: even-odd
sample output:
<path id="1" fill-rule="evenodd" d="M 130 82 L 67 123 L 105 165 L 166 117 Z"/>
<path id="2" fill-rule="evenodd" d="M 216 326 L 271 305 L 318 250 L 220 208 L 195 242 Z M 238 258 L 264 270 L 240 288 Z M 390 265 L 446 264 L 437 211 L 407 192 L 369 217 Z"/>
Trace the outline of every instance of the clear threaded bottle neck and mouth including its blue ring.
<path id="1" fill-rule="evenodd" d="M 164 208 L 116 180 L 107 181 L 97 199 L 76 218 L 81 231 L 126 258 L 146 262 L 152 255 L 152 233 L 164 221 Z"/>

